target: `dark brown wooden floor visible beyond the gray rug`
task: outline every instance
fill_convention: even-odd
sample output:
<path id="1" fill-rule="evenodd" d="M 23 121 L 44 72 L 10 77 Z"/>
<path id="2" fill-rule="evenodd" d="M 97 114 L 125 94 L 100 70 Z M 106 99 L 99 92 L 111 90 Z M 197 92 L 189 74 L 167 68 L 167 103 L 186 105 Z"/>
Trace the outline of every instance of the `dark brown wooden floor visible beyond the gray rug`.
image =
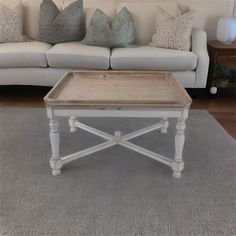
<path id="1" fill-rule="evenodd" d="M 48 87 L 0 86 L 0 107 L 44 107 L 43 97 L 49 90 Z M 193 98 L 191 108 L 207 110 L 236 139 L 235 96 Z"/>

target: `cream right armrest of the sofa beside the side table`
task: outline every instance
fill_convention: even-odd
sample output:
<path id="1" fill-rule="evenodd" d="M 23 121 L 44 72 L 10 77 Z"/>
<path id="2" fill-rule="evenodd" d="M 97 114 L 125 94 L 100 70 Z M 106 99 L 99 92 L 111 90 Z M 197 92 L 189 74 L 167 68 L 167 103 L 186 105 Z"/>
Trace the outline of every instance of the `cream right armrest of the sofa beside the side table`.
<path id="1" fill-rule="evenodd" d="M 192 30 L 192 52 L 198 57 L 195 88 L 205 88 L 209 69 L 206 32 L 197 28 Z"/>

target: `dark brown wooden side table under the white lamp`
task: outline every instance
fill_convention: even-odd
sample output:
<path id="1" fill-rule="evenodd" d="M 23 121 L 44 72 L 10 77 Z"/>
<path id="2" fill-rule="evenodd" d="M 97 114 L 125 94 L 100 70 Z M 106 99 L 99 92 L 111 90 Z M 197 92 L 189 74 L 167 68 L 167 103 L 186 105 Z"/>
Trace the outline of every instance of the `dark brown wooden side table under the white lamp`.
<path id="1" fill-rule="evenodd" d="M 216 94 L 217 88 L 236 87 L 236 44 L 212 40 L 208 41 L 207 48 L 210 56 L 210 93 Z"/>

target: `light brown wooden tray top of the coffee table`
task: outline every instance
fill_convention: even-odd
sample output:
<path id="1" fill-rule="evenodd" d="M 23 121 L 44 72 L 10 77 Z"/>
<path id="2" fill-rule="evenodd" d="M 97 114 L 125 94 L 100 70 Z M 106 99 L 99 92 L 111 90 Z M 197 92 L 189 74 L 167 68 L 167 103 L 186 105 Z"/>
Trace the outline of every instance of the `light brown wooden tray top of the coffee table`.
<path id="1" fill-rule="evenodd" d="M 169 72 L 78 71 L 60 80 L 44 101 L 87 108 L 189 107 L 192 99 Z"/>

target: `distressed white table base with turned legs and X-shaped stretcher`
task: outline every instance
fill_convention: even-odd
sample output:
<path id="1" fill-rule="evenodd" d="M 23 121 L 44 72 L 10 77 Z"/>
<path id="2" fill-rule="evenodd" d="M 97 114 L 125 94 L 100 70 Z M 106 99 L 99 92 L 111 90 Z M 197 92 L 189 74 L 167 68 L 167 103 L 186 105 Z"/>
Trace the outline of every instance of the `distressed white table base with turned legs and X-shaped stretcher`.
<path id="1" fill-rule="evenodd" d="M 79 158 L 88 156 L 92 153 L 101 151 L 103 149 L 112 147 L 114 145 L 121 145 L 140 154 L 155 159 L 165 165 L 168 165 L 173 170 L 173 176 L 176 178 L 181 177 L 181 172 L 184 169 L 184 162 L 182 159 L 182 151 L 185 141 L 185 120 L 188 117 L 188 108 L 158 108 L 158 109 L 68 109 L 68 108 L 51 108 L 47 107 L 48 117 L 50 119 L 50 141 L 52 148 L 52 157 L 50 159 L 50 166 L 54 176 L 61 173 L 63 165 L 77 160 Z M 59 123 L 57 117 L 68 117 L 71 132 L 76 132 L 78 128 L 83 129 L 89 133 L 97 135 L 107 140 L 106 142 L 95 145 L 93 147 L 84 149 L 82 151 L 60 157 L 59 154 Z M 147 128 L 134 131 L 129 134 L 121 135 L 120 131 L 116 131 L 114 136 L 96 128 L 87 126 L 78 121 L 77 117 L 143 117 L 143 118 L 161 118 L 159 123 L 153 124 Z M 146 134 L 153 130 L 160 129 L 160 132 L 165 134 L 168 129 L 168 118 L 177 118 L 176 135 L 175 135 L 175 156 L 174 159 L 162 156 L 148 149 L 140 147 L 136 144 L 129 142 L 129 140 L 136 138 L 140 135 Z"/>

